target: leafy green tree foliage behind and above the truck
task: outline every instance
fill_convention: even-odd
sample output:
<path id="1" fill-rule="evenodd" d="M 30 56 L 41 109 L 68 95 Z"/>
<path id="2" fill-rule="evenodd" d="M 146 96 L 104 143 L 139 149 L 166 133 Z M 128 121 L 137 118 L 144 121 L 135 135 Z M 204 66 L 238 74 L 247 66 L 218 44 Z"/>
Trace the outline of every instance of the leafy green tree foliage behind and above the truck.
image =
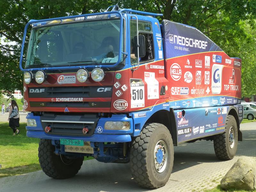
<path id="1" fill-rule="evenodd" d="M 18 68 L 23 29 L 30 19 L 103 12 L 109 5 L 163 13 L 163 18 L 198 28 L 230 57 L 242 59 L 242 95 L 256 94 L 255 0 L 2 0 L 0 1 L 0 90 L 22 90 Z M 25 49 L 27 48 L 29 32 Z"/>

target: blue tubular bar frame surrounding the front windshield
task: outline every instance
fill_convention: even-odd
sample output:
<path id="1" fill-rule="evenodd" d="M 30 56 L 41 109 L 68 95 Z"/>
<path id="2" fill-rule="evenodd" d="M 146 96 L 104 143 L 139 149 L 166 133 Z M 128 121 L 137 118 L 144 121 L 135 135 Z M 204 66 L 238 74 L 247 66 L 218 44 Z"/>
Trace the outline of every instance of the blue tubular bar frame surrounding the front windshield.
<path id="1" fill-rule="evenodd" d="M 94 15 L 110 15 L 110 14 L 118 14 L 120 16 L 120 34 L 119 34 L 119 54 L 118 54 L 118 60 L 114 65 L 88 65 L 88 66 L 73 66 L 73 67 L 46 67 L 46 68 L 29 68 L 29 69 L 23 69 L 22 68 L 22 60 L 23 60 L 23 50 L 24 50 L 24 44 L 26 40 L 26 34 L 28 26 L 34 23 L 40 23 L 40 22 L 47 22 L 47 21 L 53 21 L 53 20 L 64 20 L 64 19 L 71 19 L 76 17 L 87 17 L 87 16 L 94 16 Z M 102 67 L 102 68 L 115 68 L 121 61 L 121 55 L 126 53 L 121 51 L 122 47 L 122 34 L 123 34 L 123 15 L 118 11 L 111 11 L 111 12 L 101 12 L 101 13 L 91 13 L 91 14 L 84 14 L 84 15 L 74 15 L 74 16 L 68 16 L 68 17 L 58 17 L 53 19 L 44 19 L 44 20 L 30 20 L 25 28 L 24 28 L 24 34 L 21 44 L 21 50 L 20 50 L 20 70 L 21 71 L 33 71 L 33 70 L 64 70 L 64 69 L 80 69 L 80 68 L 95 68 L 95 67 Z"/>

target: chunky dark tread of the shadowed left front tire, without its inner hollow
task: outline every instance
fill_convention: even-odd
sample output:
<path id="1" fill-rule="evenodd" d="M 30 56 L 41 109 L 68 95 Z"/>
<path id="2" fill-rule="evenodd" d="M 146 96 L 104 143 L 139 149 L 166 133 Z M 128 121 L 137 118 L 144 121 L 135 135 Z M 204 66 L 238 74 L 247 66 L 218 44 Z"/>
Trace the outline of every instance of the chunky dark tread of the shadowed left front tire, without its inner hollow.
<path id="1" fill-rule="evenodd" d="M 39 163 L 43 170 L 43 172 L 54 179 L 67 179 L 70 177 L 74 177 L 76 173 L 81 169 L 84 158 L 76 159 L 76 162 L 72 165 L 72 169 L 65 169 L 65 164 L 63 164 L 63 169 L 60 170 L 54 164 L 53 158 L 56 157 L 55 147 L 52 145 L 51 140 L 41 139 L 38 147 L 38 157 Z M 60 158 L 58 156 L 58 158 Z"/>

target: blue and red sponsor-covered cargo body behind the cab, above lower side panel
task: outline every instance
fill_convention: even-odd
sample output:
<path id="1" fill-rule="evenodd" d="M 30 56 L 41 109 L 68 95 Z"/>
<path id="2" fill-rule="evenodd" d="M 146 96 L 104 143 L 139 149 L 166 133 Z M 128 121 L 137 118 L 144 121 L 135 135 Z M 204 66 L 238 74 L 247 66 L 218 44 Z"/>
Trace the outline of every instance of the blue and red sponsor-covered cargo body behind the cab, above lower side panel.
<path id="1" fill-rule="evenodd" d="M 163 20 L 170 108 L 241 103 L 241 59 L 230 58 L 196 28 Z"/>

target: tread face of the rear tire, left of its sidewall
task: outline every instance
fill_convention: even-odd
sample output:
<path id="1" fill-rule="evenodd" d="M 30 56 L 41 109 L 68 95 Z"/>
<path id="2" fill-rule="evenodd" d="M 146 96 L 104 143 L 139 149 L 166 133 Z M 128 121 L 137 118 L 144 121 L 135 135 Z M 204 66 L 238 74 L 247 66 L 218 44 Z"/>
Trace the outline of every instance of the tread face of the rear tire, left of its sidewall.
<path id="1" fill-rule="evenodd" d="M 231 121 L 232 118 L 234 118 L 234 120 L 236 121 L 234 116 L 231 116 L 231 115 L 227 116 L 225 127 L 227 127 L 228 122 Z M 213 139 L 214 151 L 217 158 L 220 160 L 230 160 L 234 158 L 228 155 L 228 149 L 226 146 L 226 137 L 229 137 L 228 134 L 229 134 L 229 131 L 225 130 L 224 133 L 215 135 Z"/>

